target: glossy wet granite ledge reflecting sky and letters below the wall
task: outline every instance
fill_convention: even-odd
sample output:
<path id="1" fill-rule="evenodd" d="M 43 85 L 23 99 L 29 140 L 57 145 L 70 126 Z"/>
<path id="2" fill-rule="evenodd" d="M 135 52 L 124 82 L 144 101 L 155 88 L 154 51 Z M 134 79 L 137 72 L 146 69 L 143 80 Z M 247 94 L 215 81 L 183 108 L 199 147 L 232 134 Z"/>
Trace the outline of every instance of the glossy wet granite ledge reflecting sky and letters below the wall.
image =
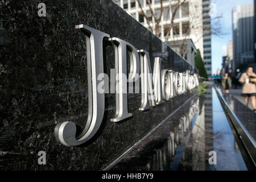
<path id="1" fill-rule="evenodd" d="M 209 164 L 209 152 L 216 164 Z M 181 107 L 112 170 L 247 170 L 214 88 Z"/>

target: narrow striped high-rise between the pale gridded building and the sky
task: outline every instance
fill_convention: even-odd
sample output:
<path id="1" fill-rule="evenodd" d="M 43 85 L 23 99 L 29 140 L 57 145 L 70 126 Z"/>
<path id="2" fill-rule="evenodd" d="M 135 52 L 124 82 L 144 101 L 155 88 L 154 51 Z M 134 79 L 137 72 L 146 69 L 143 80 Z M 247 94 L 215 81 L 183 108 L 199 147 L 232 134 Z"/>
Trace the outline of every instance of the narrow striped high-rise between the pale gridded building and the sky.
<path id="1" fill-rule="evenodd" d="M 210 36 L 210 0 L 203 0 L 203 45 L 204 45 L 204 67 L 207 75 L 212 75 L 212 51 Z"/>

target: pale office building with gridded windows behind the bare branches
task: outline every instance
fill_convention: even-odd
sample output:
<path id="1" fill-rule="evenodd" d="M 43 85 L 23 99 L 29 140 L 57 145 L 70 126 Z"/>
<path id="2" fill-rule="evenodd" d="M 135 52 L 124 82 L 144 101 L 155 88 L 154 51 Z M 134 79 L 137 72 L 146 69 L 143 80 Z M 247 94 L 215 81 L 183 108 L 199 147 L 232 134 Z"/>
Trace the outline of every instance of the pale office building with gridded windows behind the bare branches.
<path id="1" fill-rule="evenodd" d="M 128 14 L 141 22 L 145 27 L 149 28 L 146 18 L 143 16 L 141 7 L 137 0 L 114 0 Z M 155 19 L 151 15 L 150 7 L 146 0 L 139 0 L 144 14 L 148 17 L 150 26 L 154 27 Z M 207 33 L 207 28 L 210 28 L 209 3 L 207 0 L 187 0 L 179 9 L 177 9 L 178 1 L 163 0 L 163 15 L 159 23 L 159 38 L 163 42 L 179 52 L 177 45 L 180 42 L 184 43 L 185 48 L 189 48 L 185 58 L 195 65 L 196 49 L 201 52 L 201 57 L 204 59 L 205 68 L 208 75 L 211 75 L 211 51 L 210 51 L 210 35 Z M 171 6 L 170 6 L 171 5 Z M 160 0 L 151 0 L 151 9 L 154 11 L 156 18 L 160 17 Z M 174 24 L 168 34 L 172 13 L 177 9 L 174 16 Z M 189 32 L 187 34 L 186 32 Z M 155 30 L 153 30 L 155 34 Z M 190 60 L 191 59 L 191 60 Z"/>

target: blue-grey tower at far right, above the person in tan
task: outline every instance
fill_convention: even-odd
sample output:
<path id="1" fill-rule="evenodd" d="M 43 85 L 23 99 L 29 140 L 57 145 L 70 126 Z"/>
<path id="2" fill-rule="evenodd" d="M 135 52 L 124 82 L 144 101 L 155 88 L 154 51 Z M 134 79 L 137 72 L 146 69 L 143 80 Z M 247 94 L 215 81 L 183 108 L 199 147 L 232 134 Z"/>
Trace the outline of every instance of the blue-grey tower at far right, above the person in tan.
<path id="1" fill-rule="evenodd" d="M 254 63 L 254 5 L 236 6 L 233 21 L 233 67 Z"/>

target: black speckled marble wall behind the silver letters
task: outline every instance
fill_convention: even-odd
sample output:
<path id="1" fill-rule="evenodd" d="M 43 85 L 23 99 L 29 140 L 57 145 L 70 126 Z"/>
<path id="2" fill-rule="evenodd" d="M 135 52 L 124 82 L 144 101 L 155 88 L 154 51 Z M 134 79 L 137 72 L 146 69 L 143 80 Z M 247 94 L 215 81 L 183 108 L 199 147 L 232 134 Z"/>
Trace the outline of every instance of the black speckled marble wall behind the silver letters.
<path id="1" fill-rule="evenodd" d="M 46 17 L 38 4 L 46 4 Z M 141 94 L 129 94 L 133 117 L 113 123 L 115 94 L 106 94 L 100 131 L 80 147 L 57 142 L 57 123 L 73 121 L 82 129 L 87 121 L 86 41 L 75 25 L 86 24 L 137 49 L 161 52 L 163 43 L 110 0 L 0 2 L 0 169 L 103 169 L 144 137 L 191 93 L 139 111 Z M 114 48 L 106 45 L 104 72 L 114 68 Z M 169 47 L 162 68 L 197 71 Z M 165 50 L 166 51 L 166 50 Z M 46 151 L 46 165 L 38 152 Z"/>

